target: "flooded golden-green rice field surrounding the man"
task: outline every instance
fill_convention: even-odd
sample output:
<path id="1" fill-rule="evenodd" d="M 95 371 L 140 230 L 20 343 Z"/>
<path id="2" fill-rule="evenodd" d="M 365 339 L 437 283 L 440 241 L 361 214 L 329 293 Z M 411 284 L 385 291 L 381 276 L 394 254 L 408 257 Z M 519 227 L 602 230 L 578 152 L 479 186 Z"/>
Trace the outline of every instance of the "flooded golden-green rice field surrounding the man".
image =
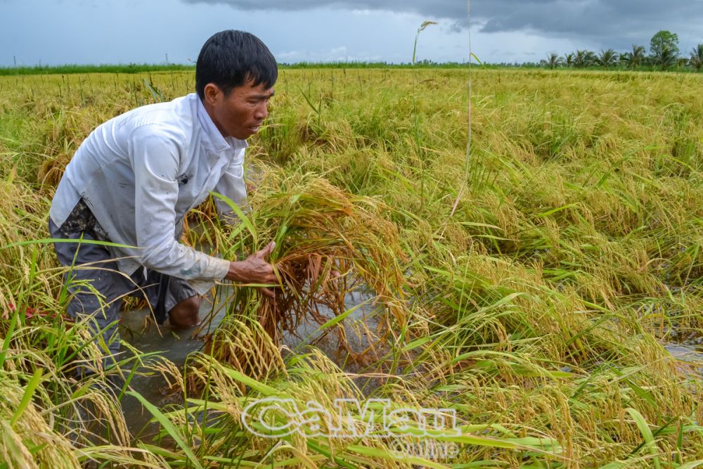
<path id="1" fill-rule="evenodd" d="M 282 70 L 247 151 L 252 210 L 230 229 L 209 201 L 183 239 L 228 257 L 276 240 L 276 302 L 236 287 L 186 364 L 126 344 L 78 380 L 98 345 L 63 319 L 51 196 L 91 129 L 193 72 L 0 77 L 0 467 L 703 465 L 703 76 L 471 78 L 469 120 L 467 70 Z M 339 350 L 284 347 L 305 321 Z M 174 404 L 131 388 L 157 375 Z M 300 431 L 247 430 L 264 398 Z M 384 433 L 342 398 L 455 412 L 460 431 L 412 414 Z M 129 429 L 126 399 L 157 435 Z M 317 430 L 291 411 L 310 401 L 331 416 Z"/>

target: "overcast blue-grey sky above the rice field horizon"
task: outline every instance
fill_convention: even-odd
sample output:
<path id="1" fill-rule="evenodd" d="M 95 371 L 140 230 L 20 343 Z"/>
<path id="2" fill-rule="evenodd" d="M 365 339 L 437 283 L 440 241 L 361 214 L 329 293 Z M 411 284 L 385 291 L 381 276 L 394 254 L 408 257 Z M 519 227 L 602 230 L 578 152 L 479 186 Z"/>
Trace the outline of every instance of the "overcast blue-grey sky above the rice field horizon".
<path id="1" fill-rule="evenodd" d="M 538 61 L 549 52 L 703 43 L 703 0 L 0 0 L 0 66 L 188 63 L 214 32 L 246 30 L 279 62 Z"/>

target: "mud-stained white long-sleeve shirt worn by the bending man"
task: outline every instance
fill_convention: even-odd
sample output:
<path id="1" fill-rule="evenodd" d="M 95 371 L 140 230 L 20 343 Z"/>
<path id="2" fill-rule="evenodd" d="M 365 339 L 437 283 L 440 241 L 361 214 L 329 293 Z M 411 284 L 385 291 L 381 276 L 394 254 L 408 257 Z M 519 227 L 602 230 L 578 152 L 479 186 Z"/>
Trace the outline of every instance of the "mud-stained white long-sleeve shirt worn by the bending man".
<path id="1" fill-rule="evenodd" d="M 229 262 L 179 243 L 188 210 L 216 191 L 244 207 L 246 141 L 224 138 L 197 94 L 136 108 L 98 126 L 67 165 L 49 216 L 61 226 L 80 198 L 113 243 L 120 271 L 224 278 Z M 224 204 L 219 204 L 223 214 Z"/>

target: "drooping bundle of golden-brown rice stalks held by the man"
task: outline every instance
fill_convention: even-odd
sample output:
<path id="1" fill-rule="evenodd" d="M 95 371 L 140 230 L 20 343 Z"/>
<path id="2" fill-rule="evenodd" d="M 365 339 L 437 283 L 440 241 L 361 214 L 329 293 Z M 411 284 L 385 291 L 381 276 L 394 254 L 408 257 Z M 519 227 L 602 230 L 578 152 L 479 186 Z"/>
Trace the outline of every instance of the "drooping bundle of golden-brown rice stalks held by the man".
<path id="1" fill-rule="evenodd" d="M 257 319 L 277 344 L 283 331 L 295 334 L 302 321 L 314 321 L 322 329 L 334 326 L 340 348 L 352 359 L 363 359 L 373 347 L 354 353 L 340 327 L 352 312 L 344 302 L 349 292 L 364 289 L 375 294 L 389 313 L 379 326 L 386 332 L 391 325 L 406 323 L 400 266 L 404 255 L 396 227 L 385 218 L 387 207 L 309 174 L 283 179 L 270 172 L 264 177 L 248 217 L 230 203 L 242 222 L 218 244 L 226 246 L 223 257 L 232 259 L 237 252 L 255 252 L 264 240 L 275 240 L 269 262 L 276 266 L 280 285 L 273 298 L 238 290 L 229 313 Z M 241 357 L 226 356 L 217 344 L 209 349 L 222 361 L 241 362 Z"/>

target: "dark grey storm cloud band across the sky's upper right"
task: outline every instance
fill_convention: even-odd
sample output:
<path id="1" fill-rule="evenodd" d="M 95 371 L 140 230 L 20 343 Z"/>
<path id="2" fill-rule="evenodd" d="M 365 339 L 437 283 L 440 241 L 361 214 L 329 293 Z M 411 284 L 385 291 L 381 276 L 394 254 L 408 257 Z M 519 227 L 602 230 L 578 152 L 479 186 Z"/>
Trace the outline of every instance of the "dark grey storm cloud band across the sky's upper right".
<path id="1" fill-rule="evenodd" d="M 453 29 L 467 24 L 467 5 L 462 0 L 184 1 L 229 4 L 244 10 L 385 10 L 446 18 Z M 527 31 L 613 47 L 628 47 L 632 42 L 648 44 L 652 34 L 663 29 L 678 32 L 682 41 L 703 39 L 703 0 L 474 0 L 471 17 L 482 32 Z"/>

